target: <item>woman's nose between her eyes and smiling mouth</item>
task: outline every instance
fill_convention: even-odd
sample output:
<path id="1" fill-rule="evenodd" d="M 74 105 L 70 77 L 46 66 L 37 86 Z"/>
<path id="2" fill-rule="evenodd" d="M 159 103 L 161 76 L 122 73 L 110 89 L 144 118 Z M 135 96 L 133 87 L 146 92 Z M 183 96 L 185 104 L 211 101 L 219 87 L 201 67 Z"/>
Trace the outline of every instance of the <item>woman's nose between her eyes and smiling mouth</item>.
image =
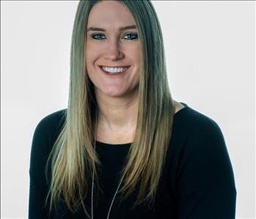
<path id="1" fill-rule="evenodd" d="M 124 53 L 120 50 L 120 42 L 119 40 L 111 40 L 111 42 L 108 43 L 106 46 L 106 52 L 104 55 L 104 58 L 106 59 L 122 59 L 124 56 Z"/>

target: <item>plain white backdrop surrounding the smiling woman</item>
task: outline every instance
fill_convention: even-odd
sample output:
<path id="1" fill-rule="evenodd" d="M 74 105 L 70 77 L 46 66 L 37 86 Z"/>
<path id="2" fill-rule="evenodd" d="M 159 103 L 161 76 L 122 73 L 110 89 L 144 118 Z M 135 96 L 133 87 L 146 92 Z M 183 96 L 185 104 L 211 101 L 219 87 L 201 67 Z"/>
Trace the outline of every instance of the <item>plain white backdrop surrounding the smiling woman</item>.
<path id="1" fill-rule="evenodd" d="M 1 218 L 27 218 L 40 119 L 67 108 L 78 1 L 1 1 Z M 255 2 L 153 1 L 173 99 L 215 120 L 235 174 L 237 218 L 255 218 Z"/>

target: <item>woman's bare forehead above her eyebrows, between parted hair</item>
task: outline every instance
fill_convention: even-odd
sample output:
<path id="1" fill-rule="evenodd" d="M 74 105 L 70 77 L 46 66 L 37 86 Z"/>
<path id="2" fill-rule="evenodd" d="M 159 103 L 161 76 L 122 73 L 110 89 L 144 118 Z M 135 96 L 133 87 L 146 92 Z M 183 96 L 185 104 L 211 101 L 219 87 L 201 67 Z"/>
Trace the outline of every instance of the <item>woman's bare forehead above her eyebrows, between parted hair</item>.
<path id="1" fill-rule="evenodd" d="M 102 26 L 108 29 L 135 25 L 134 17 L 118 1 L 100 1 L 89 12 L 87 26 Z"/>

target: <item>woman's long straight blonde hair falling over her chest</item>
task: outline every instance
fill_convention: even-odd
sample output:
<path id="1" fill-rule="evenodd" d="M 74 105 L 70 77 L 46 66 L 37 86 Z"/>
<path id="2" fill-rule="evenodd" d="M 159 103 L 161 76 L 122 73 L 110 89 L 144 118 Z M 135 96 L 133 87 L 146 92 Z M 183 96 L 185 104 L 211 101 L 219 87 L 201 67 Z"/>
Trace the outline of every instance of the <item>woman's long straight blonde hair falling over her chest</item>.
<path id="1" fill-rule="evenodd" d="M 70 51 L 70 89 L 64 123 L 54 142 L 45 167 L 47 177 L 51 163 L 49 196 L 50 212 L 60 196 L 72 212 L 83 207 L 88 195 L 92 173 L 99 188 L 98 155 L 93 150 L 94 122 L 97 102 L 92 81 L 87 75 L 85 57 L 87 19 L 92 7 L 99 1 L 79 1 L 73 24 Z M 142 71 L 139 79 L 139 109 L 134 141 L 125 160 L 125 174 L 120 187 L 122 199 L 136 187 L 136 205 L 147 202 L 153 206 L 158 182 L 172 135 L 174 101 L 169 91 L 164 42 L 158 16 L 150 1 L 119 1 L 134 16 L 142 48 Z"/>

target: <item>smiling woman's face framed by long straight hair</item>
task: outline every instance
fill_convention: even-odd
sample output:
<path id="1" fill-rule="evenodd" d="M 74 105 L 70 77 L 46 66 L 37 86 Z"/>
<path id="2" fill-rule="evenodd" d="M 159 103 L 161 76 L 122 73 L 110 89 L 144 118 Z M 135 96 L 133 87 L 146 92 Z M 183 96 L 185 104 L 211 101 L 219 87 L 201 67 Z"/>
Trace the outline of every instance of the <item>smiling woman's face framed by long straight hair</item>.
<path id="1" fill-rule="evenodd" d="M 125 26 L 135 26 L 135 29 L 120 30 Z M 87 72 L 95 94 L 125 97 L 138 92 L 140 62 L 141 47 L 131 13 L 118 1 L 95 4 L 89 12 L 86 40 Z M 128 67 L 128 70 L 110 75 L 102 66 Z"/>

